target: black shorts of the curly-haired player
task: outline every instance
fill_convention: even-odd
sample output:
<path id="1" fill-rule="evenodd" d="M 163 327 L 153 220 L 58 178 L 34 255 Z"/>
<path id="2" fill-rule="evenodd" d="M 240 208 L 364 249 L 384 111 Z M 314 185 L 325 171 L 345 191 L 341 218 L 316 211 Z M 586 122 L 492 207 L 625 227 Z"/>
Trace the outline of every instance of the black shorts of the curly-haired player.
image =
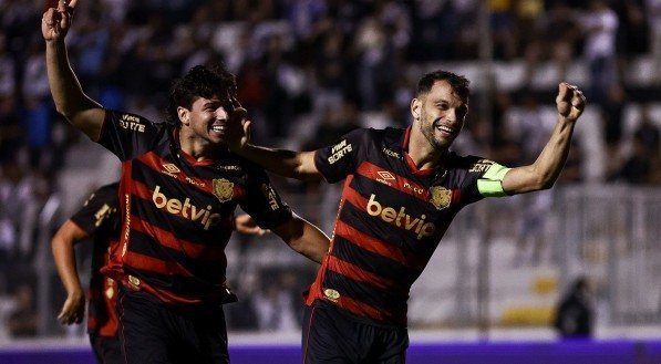
<path id="1" fill-rule="evenodd" d="M 219 304 L 182 309 L 120 288 L 117 314 L 126 364 L 229 363 Z"/>

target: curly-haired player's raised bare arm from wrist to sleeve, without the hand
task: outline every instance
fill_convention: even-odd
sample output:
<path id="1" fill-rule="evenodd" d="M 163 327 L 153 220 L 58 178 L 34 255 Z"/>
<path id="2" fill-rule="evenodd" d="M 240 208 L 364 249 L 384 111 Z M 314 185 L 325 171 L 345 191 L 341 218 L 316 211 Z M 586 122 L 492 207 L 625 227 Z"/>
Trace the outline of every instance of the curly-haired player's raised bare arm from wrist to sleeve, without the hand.
<path id="1" fill-rule="evenodd" d="M 83 92 L 66 54 L 63 40 L 45 42 L 45 60 L 55 110 L 76 128 L 95 138 L 101 129 L 101 105 Z M 92 117 L 93 116 L 93 117 Z"/>

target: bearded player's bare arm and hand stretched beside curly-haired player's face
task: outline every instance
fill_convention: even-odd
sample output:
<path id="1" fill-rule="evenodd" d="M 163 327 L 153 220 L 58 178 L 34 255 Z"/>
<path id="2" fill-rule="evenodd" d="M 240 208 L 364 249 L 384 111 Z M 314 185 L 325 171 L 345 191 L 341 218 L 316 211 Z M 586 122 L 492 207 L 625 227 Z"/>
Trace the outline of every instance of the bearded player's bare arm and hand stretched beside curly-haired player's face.
<path id="1" fill-rule="evenodd" d="M 314 152 L 293 152 L 257 146 L 250 143 L 250 121 L 246 110 L 237 108 L 228 122 L 229 149 L 277 175 L 301 180 L 321 179 L 314 165 Z"/>

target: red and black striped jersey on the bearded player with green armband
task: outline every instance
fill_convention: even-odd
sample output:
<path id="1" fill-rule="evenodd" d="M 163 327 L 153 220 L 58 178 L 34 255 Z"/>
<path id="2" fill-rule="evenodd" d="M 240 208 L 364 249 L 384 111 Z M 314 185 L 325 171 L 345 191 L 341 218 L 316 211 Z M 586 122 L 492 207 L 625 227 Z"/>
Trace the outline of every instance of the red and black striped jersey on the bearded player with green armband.
<path id="1" fill-rule="evenodd" d="M 411 285 L 455 215 L 502 195 L 489 190 L 489 176 L 507 168 L 492 160 L 450 152 L 435 168 L 417 169 L 407 155 L 410 131 L 355 129 L 316 152 L 319 171 L 329 183 L 344 179 L 344 187 L 330 253 L 307 304 L 326 300 L 405 326 Z"/>

